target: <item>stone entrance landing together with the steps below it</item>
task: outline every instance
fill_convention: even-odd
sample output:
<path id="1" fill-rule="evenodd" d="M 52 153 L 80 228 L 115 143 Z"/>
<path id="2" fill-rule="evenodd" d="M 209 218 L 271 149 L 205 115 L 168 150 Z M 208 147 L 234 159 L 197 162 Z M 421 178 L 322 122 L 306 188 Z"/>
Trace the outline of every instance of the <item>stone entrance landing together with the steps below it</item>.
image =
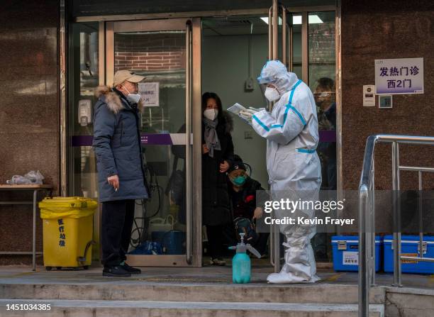
<path id="1" fill-rule="evenodd" d="M 250 284 L 233 284 L 230 266 L 142 267 L 128 278 L 103 277 L 101 267 L 4 266 L 0 317 L 357 317 L 357 272 L 318 269 L 315 284 L 274 285 L 267 261 L 252 262 Z M 377 274 L 369 317 L 434 316 L 434 276 L 404 274 L 403 288 L 392 282 L 392 274 Z M 12 304 L 52 309 L 11 311 Z"/>

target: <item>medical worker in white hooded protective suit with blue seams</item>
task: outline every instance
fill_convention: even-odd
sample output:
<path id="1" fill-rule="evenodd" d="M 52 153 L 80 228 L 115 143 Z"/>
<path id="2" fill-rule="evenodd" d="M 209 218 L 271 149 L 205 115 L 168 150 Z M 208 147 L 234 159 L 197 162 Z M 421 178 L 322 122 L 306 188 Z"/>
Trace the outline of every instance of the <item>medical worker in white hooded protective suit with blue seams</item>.
<path id="1" fill-rule="evenodd" d="M 265 98 L 274 101 L 272 112 L 258 111 L 252 115 L 252 126 L 267 139 L 267 172 L 273 200 L 289 198 L 316 201 L 321 186 L 321 164 L 316 154 L 318 118 L 311 89 L 287 72 L 278 60 L 262 68 L 260 84 L 266 85 Z M 277 216 L 312 218 L 313 208 L 294 213 L 277 211 Z M 315 234 L 312 225 L 280 225 L 286 237 L 285 264 L 281 272 L 269 274 L 274 284 L 316 282 L 316 263 L 311 246 Z"/>

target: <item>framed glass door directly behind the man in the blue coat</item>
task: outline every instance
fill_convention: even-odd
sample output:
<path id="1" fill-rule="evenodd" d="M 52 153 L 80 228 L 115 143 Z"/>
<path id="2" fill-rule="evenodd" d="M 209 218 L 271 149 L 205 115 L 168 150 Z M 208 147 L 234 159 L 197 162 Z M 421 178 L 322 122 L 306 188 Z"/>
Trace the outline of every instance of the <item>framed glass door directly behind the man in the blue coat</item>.
<path id="1" fill-rule="evenodd" d="M 196 32 L 197 19 L 106 23 L 106 84 L 122 69 L 145 77 L 140 133 L 151 196 L 136 201 L 130 265 L 201 265 L 200 186 L 193 186 L 201 169 L 192 168 L 200 166 L 200 131 L 192 125 L 201 106 Z"/>

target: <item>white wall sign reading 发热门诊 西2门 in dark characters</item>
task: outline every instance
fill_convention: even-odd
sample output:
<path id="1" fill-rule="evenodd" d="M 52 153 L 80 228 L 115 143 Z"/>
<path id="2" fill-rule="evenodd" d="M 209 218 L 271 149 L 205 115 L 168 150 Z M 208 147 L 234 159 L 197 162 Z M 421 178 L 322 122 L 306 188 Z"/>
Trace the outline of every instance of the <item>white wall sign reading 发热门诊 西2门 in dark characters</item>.
<path id="1" fill-rule="evenodd" d="M 423 58 L 375 60 L 377 94 L 423 94 Z"/>

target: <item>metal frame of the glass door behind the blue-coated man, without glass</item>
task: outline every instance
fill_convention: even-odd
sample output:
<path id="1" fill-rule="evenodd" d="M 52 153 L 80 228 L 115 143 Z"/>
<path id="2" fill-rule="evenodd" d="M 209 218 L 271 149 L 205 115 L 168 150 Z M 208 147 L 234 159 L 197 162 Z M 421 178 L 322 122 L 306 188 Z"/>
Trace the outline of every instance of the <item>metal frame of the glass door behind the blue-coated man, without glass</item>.
<path id="1" fill-rule="evenodd" d="M 202 265 L 201 213 L 201 19 L 170 18 L 99 23 L 100 84 L 111 86 L 114 75 L 114 34 L 118 32 L 186 30 L 186 151 L 187 255 L 127 255 L 130 265 L 143 267 L 200 267 Z M 102 32 L 102 33 L 101 33 Z M 101 58 L 104 57 L 104 58 Z M 104 73 L 104 74 L 103 74 Z M 194 167 L 194 168 L 193 168 Z"/>

